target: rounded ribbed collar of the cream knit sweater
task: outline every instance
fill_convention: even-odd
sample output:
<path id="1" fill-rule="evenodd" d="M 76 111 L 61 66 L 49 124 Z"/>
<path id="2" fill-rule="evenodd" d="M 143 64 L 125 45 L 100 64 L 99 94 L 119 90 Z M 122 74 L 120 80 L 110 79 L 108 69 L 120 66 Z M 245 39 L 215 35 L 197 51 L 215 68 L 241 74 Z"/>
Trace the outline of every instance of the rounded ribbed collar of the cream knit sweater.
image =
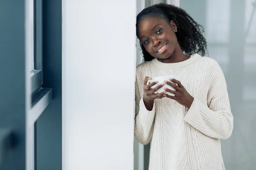
<path id="1" fill-rule="evenodd" d="M 195 62 L 196 60 L 198 60 L 200 58 L 201 58 L 201 56 L 199 54 L 193 54 L 189 59 L 186 59 L 182 62 L 163 63 L 163 62 L 160 62 L 157 58 L 154 58 L 152 60 L 152 62 L 154 63 L 155 66 L 157 66 L 159 68 L 172 69 L 172 68 L 184 67 L 186 65 L 191 64 L 192 62 Z"/>

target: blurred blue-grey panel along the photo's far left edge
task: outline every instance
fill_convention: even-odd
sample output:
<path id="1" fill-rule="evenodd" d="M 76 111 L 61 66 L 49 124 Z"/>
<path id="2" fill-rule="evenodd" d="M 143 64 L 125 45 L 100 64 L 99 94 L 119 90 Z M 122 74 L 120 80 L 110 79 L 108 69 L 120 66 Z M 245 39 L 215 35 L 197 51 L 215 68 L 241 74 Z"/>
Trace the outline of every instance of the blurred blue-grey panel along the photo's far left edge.
<path id="1" fill-rule="evenodd" d="M 0 0 L 0 128 L 15 139 L 0 170 L 25 170 L 24 0 Z"/>

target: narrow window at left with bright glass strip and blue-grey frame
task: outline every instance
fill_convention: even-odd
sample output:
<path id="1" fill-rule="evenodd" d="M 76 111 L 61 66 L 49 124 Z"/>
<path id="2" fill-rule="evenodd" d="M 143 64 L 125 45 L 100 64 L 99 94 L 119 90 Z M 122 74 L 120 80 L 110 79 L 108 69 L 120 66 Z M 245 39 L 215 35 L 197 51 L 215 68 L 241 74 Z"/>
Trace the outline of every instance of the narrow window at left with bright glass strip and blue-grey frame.
<path id="1" fill-rule="evenodd" d="M 31 106 L 27 116 L 29 170 L 36 170 L 36 121 L 52 100 L 52 89 L 43 85 L 43 0 L 27 0 Z"/>

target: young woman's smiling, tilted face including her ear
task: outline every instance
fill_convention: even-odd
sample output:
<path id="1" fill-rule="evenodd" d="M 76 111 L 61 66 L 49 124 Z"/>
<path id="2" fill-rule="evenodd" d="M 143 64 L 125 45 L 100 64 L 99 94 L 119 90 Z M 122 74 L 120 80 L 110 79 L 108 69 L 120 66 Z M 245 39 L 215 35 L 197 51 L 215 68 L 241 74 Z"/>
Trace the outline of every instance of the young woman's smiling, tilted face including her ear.
<path id="1" fill-rule="evenodd" d="M 177 26 L 158 17 L 146 17 L 140 21 L 137 35 L 148 53 L 159 59 L 169 58 L 178 45 Z"/>

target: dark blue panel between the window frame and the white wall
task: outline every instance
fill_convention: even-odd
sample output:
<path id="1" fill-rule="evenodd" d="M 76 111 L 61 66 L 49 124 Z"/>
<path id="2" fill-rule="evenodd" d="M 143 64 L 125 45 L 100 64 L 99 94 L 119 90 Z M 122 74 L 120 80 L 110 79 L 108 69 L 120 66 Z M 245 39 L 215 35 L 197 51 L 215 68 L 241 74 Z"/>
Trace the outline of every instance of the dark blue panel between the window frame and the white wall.
<path id="1" fill-rule="evenodd" d="M 43 87 L 53 100 L 37 121 L 37 170 L 62 170 L 61 29 L 61 0 L 44 0 Z"/>

